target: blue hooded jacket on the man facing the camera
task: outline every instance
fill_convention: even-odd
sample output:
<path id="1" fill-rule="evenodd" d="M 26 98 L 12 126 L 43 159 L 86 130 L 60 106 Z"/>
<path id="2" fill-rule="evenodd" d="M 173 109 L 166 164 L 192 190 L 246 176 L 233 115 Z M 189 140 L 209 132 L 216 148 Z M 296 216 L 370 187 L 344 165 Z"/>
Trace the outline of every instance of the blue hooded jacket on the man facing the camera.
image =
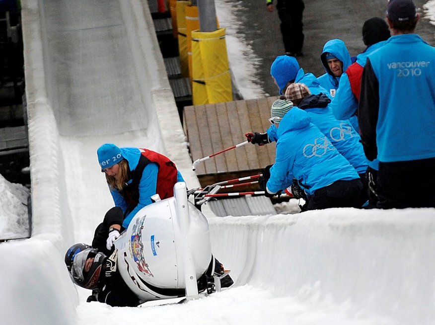
<path id="1" fill-rule="evenodd" d="M 343 72 L 345 72 L 346 69 L 348 69 L 348 67 L 352 64 L 352 59 L 345 42 L 343 42 L 341 39 L 329 40 L 325 43 L 325 46 L 323 46 L 323 52 L 320 55 L 320 61 L 322 62 L 326 73 L 317 79 L 319 80 L 320 85 L 334 97 L 335 90 L 339 85 L 340 77 L 335 77 L 331 69 L 329 69 L 326 53 L 333 54 L 337 59 L 343 62 Z"/>

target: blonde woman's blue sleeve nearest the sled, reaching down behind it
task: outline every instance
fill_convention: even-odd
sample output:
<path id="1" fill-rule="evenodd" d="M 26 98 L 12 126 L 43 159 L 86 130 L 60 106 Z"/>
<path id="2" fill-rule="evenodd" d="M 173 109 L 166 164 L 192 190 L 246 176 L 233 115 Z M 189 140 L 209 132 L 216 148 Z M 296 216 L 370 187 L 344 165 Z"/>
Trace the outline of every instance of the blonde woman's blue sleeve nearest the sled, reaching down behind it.
<path id="1" fill-rule="evenodd" d="M 148 204 L 151 204 L 151 196 L 156 193 L 157 189 L 157 173 L 158 165 L 156 163 L 148 163 L 142 173 L 141 181 L 139 182 L 139 203 L 124 219 L 122 226 L 127 228 L 133 217 Z"/>

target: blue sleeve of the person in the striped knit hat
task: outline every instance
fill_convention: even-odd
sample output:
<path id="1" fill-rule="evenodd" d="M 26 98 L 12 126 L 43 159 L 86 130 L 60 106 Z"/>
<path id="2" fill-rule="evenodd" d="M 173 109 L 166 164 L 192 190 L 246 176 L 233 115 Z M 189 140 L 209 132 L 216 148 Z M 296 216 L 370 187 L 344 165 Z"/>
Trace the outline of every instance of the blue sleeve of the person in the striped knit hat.
<path id="1" fill-rule="evenodd" d="M 291 185 L 293 180 L 293 161 L 285 144 L 278 143 L 277 155 L 273 166 L 270 168 L 270 178 L 266 187 L 271 193 L 277 193 Z"/>

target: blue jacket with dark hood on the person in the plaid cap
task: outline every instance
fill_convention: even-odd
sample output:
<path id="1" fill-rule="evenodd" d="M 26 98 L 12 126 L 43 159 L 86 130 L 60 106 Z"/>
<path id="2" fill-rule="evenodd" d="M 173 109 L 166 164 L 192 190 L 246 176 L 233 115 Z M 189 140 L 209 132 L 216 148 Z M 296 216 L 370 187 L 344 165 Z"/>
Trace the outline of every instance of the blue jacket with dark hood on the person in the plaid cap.
<path id="1" fill-rule="evenodd" d="M 299 108 L 311 117 L 311 123 L 328 138 L 338 152 L 362 174 L 367 169 L 368 161 L 360 143 L 360 135 L 354 130 L 349 120 L 339 121 L 328 104 L 331 100 L 324 94 L 310 95 L 302 99 Z"/>

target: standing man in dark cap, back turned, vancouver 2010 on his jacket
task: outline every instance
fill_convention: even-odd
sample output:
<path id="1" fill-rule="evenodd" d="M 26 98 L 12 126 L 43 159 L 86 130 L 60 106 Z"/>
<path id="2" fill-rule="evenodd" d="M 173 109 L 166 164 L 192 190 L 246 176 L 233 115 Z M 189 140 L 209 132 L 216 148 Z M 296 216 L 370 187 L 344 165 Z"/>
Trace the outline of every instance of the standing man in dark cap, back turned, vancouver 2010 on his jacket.
<path id="1" fill-rule="evenodd" d="M 390 0 L 386 20 L 392 36 L 367 57 L 358 108 L 378 207 L 435 207 L 435 48 L 415 34 L 412 0 Z"/>

